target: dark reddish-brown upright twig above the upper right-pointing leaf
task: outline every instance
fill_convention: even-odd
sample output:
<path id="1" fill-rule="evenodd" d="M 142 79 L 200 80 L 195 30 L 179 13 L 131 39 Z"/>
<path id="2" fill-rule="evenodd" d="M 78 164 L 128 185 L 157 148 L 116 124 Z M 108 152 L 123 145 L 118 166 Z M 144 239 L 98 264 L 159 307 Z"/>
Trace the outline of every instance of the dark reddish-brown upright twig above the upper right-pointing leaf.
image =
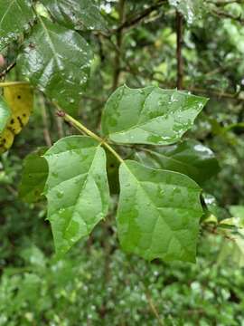
<path id="1" fill-rule="evenodd" d="M 177 89 L 183 89 L 183 16 L 178 11 L 176 11 L 176 35 L 177 35 L 177 48 L 176 48 L 176 58 L 177 58 Z"/>

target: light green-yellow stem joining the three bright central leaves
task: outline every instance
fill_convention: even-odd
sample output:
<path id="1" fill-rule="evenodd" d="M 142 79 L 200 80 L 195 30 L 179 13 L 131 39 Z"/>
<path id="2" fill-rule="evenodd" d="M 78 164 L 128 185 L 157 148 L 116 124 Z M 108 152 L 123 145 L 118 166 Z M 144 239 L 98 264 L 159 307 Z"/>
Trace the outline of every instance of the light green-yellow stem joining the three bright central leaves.
<path id="1" fill-rule="evenodd" d="M 124 163 L 123 158 L 121 158 L 118 154 L 117 151 L 115 149 L 113 149 L 108 142 L 106 142 L 105 139 L 102 139 L 101 137 L 99 137 L 97 134 L 95 134 L 94 132 L 92 132 L 91 130 L 89 130 L 88 128 L 86 128 L 84 125 L 82 125 L 82 123 L 80 123 L 78 120 L 75 120 L 73 117 L 71 117 L 69 114 L 63 112 L 63 111 L 58 111 L 58 116 L 62 117 L 65 121 L 70 122 L 70 124 L 75 127 L 76 129 L 78 129 L 81 132 L 84 132 L 85 134 L 87 134 L 89 137 L 96 139 L 99 141 L 99 143 L 104 146 L 106 149 L 108 149 L 110 151 L 110 153 L 112 153 L 117 160 L 120 163 Z"/>

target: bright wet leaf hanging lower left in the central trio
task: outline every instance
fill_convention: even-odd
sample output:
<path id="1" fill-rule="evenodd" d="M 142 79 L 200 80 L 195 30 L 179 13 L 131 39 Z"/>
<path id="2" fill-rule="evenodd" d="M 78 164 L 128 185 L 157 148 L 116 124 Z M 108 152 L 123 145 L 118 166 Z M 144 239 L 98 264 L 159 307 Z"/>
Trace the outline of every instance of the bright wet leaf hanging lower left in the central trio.
<path id="1" fill-rule="evenodd" d="M 58 255 L 89 235 L 108 212 L 106 154 L 98 141 L 83 136 L 59 140 L 44 158 L 48 219 Z"/>

